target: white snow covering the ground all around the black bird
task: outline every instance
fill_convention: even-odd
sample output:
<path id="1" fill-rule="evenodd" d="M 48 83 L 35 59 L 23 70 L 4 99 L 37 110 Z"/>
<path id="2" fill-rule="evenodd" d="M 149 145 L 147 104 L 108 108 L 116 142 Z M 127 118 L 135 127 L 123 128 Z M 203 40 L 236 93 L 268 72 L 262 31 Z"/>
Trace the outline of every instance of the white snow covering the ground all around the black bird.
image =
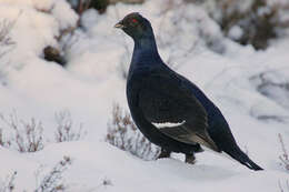
<path id="1" fill-rule="evenodd" d="M 39 11 L 50 9 L 50 13 Z M 240 148 L 265 171 L 250 171 L 210 151 L 198 153 L 195 165 L 183 163 L 183 156 L 176 154 L 143 161 L 104 141 L 112 103 L 127 109 L 121 71 L 128 69 L 133 46 L 113 26 L 132 11 L 151 20 L 163 60 L 221 109 Z M 82 29 L 67 40 L 71 46 L 66 50 L 68 65 L 62 68 L 41 57 L 46 46 L 63 46 L 54 37 L 77 22 L 77 14 L 64 0 L 0 0 L 0 17 L 16 21 L 9 34 L 16 47 L 0 58 L 8 65 L 0 69 L 0 74 L 6 74 L 0 77 L 4 82 L 0 84 L 0 113 L 9 115 L 16 110 L 24 121 L 36 118 L 50 140 L 43 150 L 33 153 L 0 148 L 0 179 L 17 171 L 16 191 L 32 191 L 39 166 L 49 170 L 63 155 L 72 159 L 63 173 L 71 192 L 271 192 L 279 190 L 278 182 L 286 189 L 289 174 L 280 165 L 278 133 L 289 149 L 288 89 L 273 84 L 289 82 L 288 37 L 273 41 L 265 51 L 256 51 L 222 37 L 219 26 L 198 6 L 169 9 L 161 0 L 141 6 L 118 3 L 104 14 L 84 12 Z M 260 91 L 262 73 L 271 84 Z M 63 110 L 71 113 L 76 127 L 83 123 L 88 133 L 84 140 L 52 142 L 54 114 Z M 1 121 L 0 127 L 8 129 Z M 103 180 L 112 184 L 103 185 Z"/>

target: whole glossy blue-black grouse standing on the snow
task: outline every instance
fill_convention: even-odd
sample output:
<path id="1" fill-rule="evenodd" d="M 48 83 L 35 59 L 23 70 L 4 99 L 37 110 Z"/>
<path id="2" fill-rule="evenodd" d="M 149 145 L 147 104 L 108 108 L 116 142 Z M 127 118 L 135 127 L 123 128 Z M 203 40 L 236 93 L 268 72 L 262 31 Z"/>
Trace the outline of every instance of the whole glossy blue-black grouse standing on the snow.
<path id="1" fill-rule="evenodd" d="M 160 158 L 183 153 L 195 163 L 202 146 L 227 153 L 247 168 L 263 170 L 238 146 L 218 107 L 195 83 L 161 59 L 151 23 L 131 12 L 114 28 L 134 42 L 127 78 L 127 100 L 138 129 L 161 148 Z"/>

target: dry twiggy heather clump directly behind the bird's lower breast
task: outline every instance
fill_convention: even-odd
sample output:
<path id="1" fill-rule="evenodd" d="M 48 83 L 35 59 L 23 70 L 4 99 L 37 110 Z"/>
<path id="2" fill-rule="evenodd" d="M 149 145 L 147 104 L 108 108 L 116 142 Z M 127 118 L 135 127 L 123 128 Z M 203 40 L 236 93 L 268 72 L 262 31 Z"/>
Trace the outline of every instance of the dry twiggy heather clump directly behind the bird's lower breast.
<path id="1" fill-rule="evenodd" d="M 160 152 L 160 149 L 137 129 L 130 114 L 118 104 L 113 104 L 112 120 L 108 123 L 106 141 L 143 160 L 157 159 Z"/>

